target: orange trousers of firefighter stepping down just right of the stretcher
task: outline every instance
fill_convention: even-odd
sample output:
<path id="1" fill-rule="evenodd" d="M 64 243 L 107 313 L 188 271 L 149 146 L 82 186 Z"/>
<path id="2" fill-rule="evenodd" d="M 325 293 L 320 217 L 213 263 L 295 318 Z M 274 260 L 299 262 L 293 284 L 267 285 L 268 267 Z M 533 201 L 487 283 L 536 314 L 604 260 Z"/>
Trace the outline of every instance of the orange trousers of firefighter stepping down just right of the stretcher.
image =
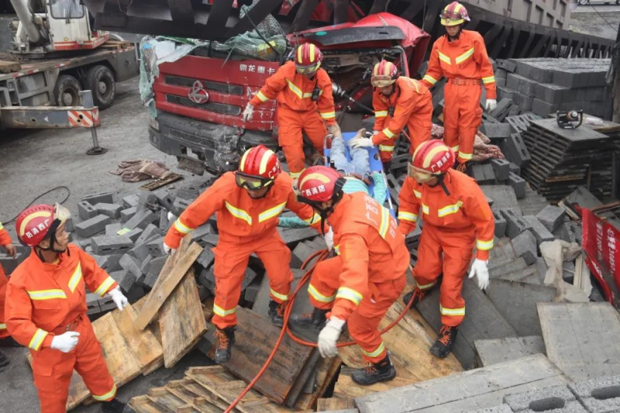
<path id="1" fill-rule="evenodd" d="M 415 282 L 426 286 L 443 273 L 440 288 L 442 324 L 458 326 L 465 315 L 461 292 L 475 244 L 473 227 L 463 231 L 446 230 L 424 223 L 417 248 L 417 264 L 413 268 Z"/>

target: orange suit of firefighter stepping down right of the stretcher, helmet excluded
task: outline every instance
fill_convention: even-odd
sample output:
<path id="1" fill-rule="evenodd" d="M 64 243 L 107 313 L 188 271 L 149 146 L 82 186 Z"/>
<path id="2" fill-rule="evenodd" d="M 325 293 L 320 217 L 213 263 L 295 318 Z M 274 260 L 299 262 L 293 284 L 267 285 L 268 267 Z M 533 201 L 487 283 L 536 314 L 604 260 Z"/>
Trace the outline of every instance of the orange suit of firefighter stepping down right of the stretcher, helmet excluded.
<path id="1" fill-rule="evenodd" d="M 476 257 L 488 260 L 495 220 L 475 180 L 450 170 L 444 184 L 450 195 L 441 185 L 429 187 L 406 178 L 398 197 L 398 229 L 405 235 L 413 231 L 422 210 L 424 228 L 413 278 L 417 288 L 428 290 L 444 274 L 440 298 L 442 324 L 454 327 L 465 317 L 461 290 L 472 250 L 475 246 Z"/>

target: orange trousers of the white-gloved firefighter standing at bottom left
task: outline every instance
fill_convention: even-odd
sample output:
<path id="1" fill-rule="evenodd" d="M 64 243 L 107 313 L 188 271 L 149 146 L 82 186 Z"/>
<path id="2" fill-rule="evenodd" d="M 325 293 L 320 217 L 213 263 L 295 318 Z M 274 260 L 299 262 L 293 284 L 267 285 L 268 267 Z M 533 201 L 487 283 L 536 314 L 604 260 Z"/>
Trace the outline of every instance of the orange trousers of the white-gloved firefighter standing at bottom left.
<path id="1" fill-rule="evenodd" d="M 101 398 L 101 401 L 110 401 L 116 396 L 116 385 L 107 370 L 101 345 L 94 335 L 88 317 L 83 315 L 74 330 L 80 333 L 80 339 L 75 350 L 70 353 L 52 348 L 30 350 L 32 376 L 39 392 L 41 413 L 66 412 L 73 370 L 80 374 L 90 393 Z M 62 332 L 54 331 L 55 334 Z"/>

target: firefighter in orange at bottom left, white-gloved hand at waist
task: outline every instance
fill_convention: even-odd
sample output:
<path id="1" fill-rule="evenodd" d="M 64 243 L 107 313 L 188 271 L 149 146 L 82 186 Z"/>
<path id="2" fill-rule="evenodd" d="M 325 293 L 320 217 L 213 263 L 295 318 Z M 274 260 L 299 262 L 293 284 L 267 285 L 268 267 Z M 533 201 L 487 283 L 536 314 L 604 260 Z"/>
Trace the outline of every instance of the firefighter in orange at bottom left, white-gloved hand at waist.
<path id="1" fill-rule="evenodd" d="M 17 217 L 17 236 L 32 253 L 12 273 L 6 290 L 6 326 L 32 354 L 42 413 L 66 411 L 75 369 L 104 412 L 122 412 L 116 384 L 86 315 L 86 291 L 110 295 L 119 310 L 127 298 L 93 257 L 69 244 L 59 204 L 35 205 Z"/>

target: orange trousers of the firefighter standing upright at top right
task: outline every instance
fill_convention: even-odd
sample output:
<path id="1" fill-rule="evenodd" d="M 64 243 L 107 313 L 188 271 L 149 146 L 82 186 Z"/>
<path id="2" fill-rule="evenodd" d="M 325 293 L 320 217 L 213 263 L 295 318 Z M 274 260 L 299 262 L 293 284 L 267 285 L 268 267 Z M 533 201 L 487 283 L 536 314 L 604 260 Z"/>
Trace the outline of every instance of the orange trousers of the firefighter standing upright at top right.
<path id="1" fill-rule="evenodd" d="M 454 85 L 446 83 L 444 89 L 444 142 L 449 147 L 459 145 L 457 160 L 471 160 L 478 127 L 482 123 L 480 85 Z"/>

